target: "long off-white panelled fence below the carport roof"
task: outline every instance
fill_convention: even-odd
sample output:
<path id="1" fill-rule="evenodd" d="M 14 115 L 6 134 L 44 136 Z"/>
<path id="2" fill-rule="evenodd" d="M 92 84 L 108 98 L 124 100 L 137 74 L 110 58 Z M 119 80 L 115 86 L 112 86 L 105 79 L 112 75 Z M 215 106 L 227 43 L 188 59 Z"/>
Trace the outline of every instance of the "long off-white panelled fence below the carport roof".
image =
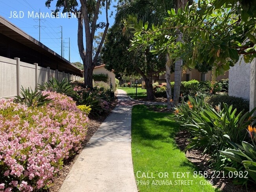
<path id="1" fill-rule="evenodd" d="M 0 56 L 0 98 L 12 98 L 19 95 L 20 88 L 37 87 L 48 81 L 50 77 L 58 80 L 67 77 L 71 81 L 80 81 L 80 76 L 66 74 L 58 70 L 51 70 L 19 61 L 19 58 L 9 59 Z"/>

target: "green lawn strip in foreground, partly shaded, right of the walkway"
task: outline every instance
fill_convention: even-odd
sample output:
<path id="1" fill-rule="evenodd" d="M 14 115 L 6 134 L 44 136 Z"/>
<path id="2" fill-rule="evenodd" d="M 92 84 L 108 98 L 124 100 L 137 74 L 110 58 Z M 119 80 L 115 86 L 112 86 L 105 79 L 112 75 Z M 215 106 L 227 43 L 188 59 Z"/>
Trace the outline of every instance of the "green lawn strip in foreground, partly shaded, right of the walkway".
<path id="1" fill-rule="evenodd" d="M 139 191 L 215 191 L 177 148 L 174 137 L 178 124 L 165 118 L 169 115 L 151 111 L 146 105 L 132 109 L 132 159 Z"/>

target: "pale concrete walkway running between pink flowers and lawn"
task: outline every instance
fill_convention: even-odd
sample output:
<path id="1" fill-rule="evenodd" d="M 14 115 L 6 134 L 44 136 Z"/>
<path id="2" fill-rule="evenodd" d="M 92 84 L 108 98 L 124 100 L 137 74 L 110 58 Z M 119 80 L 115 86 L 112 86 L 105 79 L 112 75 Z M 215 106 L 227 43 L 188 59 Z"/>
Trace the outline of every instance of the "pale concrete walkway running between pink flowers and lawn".
<path id="1" fill-rule="evenodd" d="M 131 153 L 135 102 L 118 92 L 118 105 L 80 153 L 60 192 L 137 192 Z"/>

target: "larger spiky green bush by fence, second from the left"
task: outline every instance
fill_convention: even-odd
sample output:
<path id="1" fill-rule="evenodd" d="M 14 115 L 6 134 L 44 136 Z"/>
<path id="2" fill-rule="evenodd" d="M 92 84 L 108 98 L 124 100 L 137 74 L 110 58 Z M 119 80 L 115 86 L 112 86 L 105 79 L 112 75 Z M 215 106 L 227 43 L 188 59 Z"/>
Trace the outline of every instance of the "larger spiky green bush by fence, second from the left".
<path id="1" fill-rule="evenodd" d="M 45 82 L 44 85 L 39 85 L 39 90 L 46 90 L 51 92 L 62 93 L 67 96 L 73 96 L 74 92 L 74 85 L 70 83 L 67 78 L 63 78 L 62 80 L 57 80 L 56 78 L 52 77 L 49 79 L 49 83 Z"/>

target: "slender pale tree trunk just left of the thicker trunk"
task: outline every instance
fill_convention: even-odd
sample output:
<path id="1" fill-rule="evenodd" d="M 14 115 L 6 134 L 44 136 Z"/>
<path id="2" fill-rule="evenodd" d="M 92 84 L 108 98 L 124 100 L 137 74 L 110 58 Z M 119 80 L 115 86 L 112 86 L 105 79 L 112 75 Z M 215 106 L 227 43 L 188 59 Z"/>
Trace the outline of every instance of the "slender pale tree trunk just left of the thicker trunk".
<path id="1" fill-rule="evenodd" d="M 171 62 L 169 54 L 166 54 L 166 94 L 167 94 L 167 109 L 173 107 L 172 102 L 172 88 L 171 88 Z"/>

